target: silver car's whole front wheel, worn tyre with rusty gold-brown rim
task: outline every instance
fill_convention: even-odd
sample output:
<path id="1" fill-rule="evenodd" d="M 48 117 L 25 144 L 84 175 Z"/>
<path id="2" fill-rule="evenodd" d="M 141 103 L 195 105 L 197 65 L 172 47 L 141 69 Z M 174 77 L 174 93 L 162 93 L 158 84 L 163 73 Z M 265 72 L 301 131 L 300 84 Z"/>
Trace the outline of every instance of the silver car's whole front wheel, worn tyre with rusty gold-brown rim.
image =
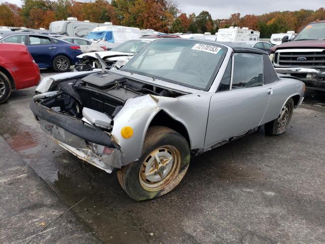
<path id="1" fill-rule="evenodd" d="M 162 126 L 149 128 L 138 161 L 123 166 L 117 177 L 123 190 L 136 201 L 172 191 L 184 177 L 190 160 L 187 141 Z"/>

